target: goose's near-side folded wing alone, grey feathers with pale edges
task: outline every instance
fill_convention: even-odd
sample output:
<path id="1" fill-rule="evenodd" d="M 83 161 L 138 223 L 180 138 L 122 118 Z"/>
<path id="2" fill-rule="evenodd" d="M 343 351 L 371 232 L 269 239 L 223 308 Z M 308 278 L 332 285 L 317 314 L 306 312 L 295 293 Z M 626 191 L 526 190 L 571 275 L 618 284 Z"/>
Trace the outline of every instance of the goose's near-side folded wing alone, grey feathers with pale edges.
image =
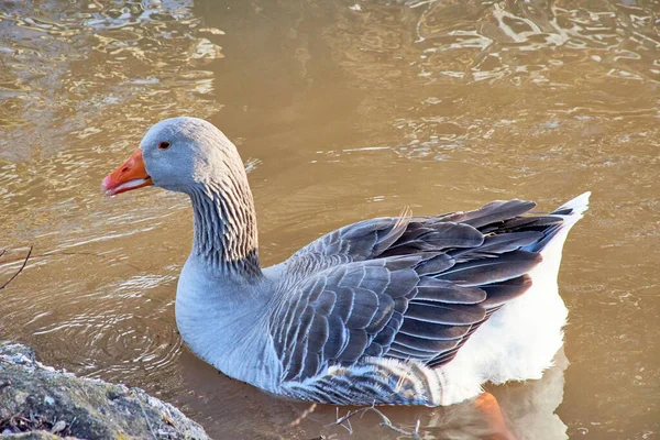
<path id="1" fill-rule="evenodd" d="M 450 361 L 501 305 L 530 286 L 539 254 L 514 250 L 479 260 L 448 253 L 340 264 L 309 276 L 272 328 L 283 380 L 314 376 L 364 356 Z"/>

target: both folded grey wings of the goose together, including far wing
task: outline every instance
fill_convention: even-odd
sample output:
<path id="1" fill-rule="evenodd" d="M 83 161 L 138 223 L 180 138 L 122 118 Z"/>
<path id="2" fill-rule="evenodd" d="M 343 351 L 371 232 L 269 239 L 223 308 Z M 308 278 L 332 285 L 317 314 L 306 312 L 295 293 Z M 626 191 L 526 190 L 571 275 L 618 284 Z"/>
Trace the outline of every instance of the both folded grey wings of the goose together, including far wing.
<path id="1" fill-rule="evenodd" d="M 563 221 L 521 217 L 534 206 L 495 201 L 469 212 L 367 220 L 302 248 L 286 264 L 273 315 L 282 380 L 364 356 L 449 362 L 530 287 L 527 273 Z"/>

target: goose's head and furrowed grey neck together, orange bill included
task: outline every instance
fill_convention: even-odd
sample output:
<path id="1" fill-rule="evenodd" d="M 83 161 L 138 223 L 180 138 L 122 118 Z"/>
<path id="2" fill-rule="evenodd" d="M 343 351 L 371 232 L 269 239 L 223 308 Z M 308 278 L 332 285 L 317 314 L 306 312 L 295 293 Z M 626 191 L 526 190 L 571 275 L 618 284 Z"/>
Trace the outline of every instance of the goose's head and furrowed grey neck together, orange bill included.
<path id="1" fill-rule="evenodd" d="M 150 185 L 190 196 L 194 255 L 241 276 L 261 274 L 252 191 L 237 147 L 220 130 L 197 118 L 163 120 L 101 189 L 114 196 Z"/>

